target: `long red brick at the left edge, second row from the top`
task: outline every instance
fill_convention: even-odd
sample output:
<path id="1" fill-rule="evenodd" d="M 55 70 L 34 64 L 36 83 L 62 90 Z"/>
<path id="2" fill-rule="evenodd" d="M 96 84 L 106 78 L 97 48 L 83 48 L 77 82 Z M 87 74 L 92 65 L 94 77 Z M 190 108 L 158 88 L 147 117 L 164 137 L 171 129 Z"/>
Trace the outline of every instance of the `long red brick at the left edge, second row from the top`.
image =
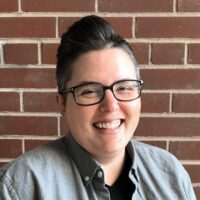
<path id="1" fill-rule="evenodd" d="M 55 37 L 55 18 L 51 17 L 2 17 L 2 38 L 49 38 Z"/>

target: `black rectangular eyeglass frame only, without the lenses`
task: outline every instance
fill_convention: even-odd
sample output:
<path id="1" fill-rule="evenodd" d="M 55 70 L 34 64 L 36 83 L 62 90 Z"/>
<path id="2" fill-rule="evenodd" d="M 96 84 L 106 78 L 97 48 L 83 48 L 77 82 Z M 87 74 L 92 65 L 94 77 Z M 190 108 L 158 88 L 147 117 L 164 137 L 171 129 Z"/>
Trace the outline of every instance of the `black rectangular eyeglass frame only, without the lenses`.
<path id="1" fill-rule="evenodd" d="M 130 99 L 130 100 L 121 100 L 121 99 L 118 99 L 118 98 L 115 96 L 115 93 L 113 92 L 113 87 L 114 87 L 114 85 L 117 84 L 117 83 L 120 83 L 120 82 L 124 82 L 124 81 L 135 81 L 135 82 L 138 83 L 139 95 L 138 95 L 137 98 Z M 100 99 L 98 102 L 95 102 L 95 103 L 92 103 L 92 104 L 81 104 L 81 103 L 79 103 L 79 102 L 77 101 L 77 99 L 76 99 L 75 89 L 76 89 L 76 88 L 79 88 L 79 87 L 82 87 L 82 86 L 91 85 L 91 84 L 97 84 L 97 85 L 101 85 L 101 86 L 102 86 L 102 88 L 103 88 L 103 95 L 102 95 L 101 99 Z M 105 91 L 109 89 L 109 90 L 111 90 L 111 92 L 113 93 L 113 96 L 115 97 L 116 100 L 122 101 L 122 102 L 128 102 L 128 101 L 136 100 L 136 99 L 138 99 L 138 98 L 141 96 L 141 94 L 142 94 L 142 85 L 143 85 L 143 84 L 144 84 L 144 81 L 143 81 L 143 80 L 137 80 L 137 79 L 122 79 L 122 80 L 116 81 L 116 82 L 114 82 L 114 83 L 112 83 L 111 85 L 108 85 L 108 86 L 102 85 L 101 83 L 88 82 L 88 83 L 83 83 L 83 84 L 80 84 L 80 85 L 71 87 L 71 88 L 69 88 L 69 89 L 66 89 L 65 91 L 61 92 L 61 94 L 62 94 L 62 95 L 65 95 L 65 94 L 71 92 L 71 93 L 73 94 L 73 97 L 74 97 L 75 102 L 76 102 L 78 105 L 80 105 L 80 106 L 92 106 L 92 105 L 96 105 L 96 104 L 100 103 L 101 101 L 103 101 L 103 99 L 104 99 L 104 97 L 105 97 Z"/>

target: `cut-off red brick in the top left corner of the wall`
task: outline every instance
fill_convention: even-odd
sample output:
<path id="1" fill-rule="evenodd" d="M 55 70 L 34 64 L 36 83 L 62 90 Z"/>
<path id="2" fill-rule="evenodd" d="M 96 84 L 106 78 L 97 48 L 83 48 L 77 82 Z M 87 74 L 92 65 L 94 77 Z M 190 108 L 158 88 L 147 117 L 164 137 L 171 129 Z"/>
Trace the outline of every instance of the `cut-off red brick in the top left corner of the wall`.
<path id="1" fill-rule="evenodd" d="M 18 1 L 17 0 L 1 0 L 0 12 L 17 12 Z"/>

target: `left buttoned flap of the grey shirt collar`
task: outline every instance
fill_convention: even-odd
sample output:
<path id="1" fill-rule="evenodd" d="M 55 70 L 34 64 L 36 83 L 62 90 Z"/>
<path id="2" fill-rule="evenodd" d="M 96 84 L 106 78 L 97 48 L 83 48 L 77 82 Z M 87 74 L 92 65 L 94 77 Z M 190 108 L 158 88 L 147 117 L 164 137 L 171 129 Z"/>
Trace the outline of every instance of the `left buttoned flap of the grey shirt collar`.
<path id="1" fill-rule="evenodd" d="M 93 179 L 97 169 L 100 168 L 100 165 L 75 141 L 71 133 L 67 134 L 65 141 L 84 184 L 88 185 Z"/>

